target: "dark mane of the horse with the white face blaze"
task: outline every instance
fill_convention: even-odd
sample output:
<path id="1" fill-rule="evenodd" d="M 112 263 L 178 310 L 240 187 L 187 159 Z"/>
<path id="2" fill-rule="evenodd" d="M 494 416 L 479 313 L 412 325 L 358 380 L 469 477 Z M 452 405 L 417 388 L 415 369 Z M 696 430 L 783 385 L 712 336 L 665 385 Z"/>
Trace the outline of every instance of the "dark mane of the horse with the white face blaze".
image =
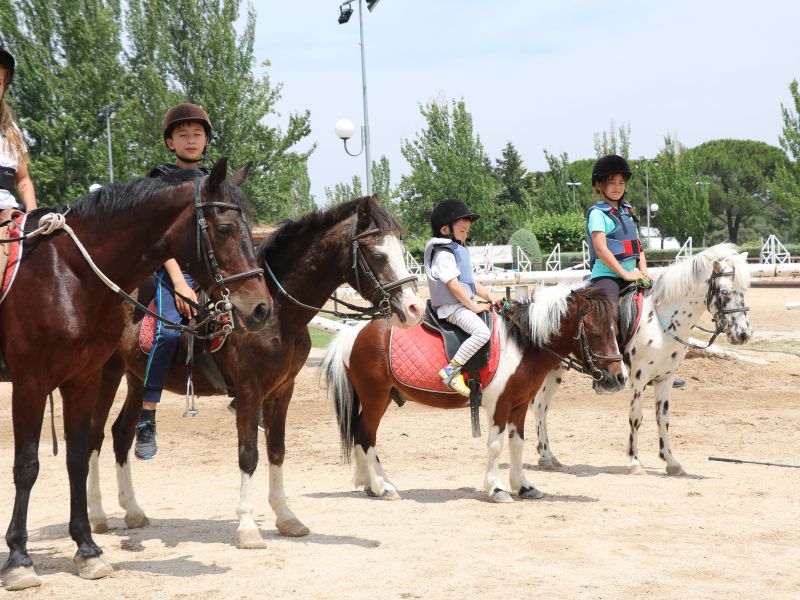
<path id="1" fill-rule="evenodd" d="M 298 219 L 287 219 L 258 248 L 259 262 L 274 248 L 283 248 L 298 239 L 310 239 L 320 231 L 327 231 L 337 223 L 356 214 L 363 198 L 338 204 L 327 210 L 315 209 Z M 403 226 L 387 211 L 376 198 L 369 199 L 372 225 L 381 235 L 403 235 Z"/>

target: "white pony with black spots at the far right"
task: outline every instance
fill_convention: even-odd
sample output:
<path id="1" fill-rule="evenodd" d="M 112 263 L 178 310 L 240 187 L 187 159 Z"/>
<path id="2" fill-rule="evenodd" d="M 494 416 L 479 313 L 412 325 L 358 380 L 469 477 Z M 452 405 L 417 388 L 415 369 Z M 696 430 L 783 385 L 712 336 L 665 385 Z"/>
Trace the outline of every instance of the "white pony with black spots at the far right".
<path id="1" fill-rule="evenodd" d="M 638 436 L 642 423 L 642 397 L 652 382 L 656 396 L 659 456 L 669 475 L 684 475 L 669 444 L 669 400 L 675 372 L 686 356 L 689 332 L 706 311 L 725 332 L 731 344 L 744 344 L 753 335 L 744 295 L 750 281 L 747 253 L 738 254 L 733 244 L 719 244 L 691 260 L 671 265 L 655 277 L 645 296 L 639 330 L 624 348 L 631 366 L 628 422 L 628 471 L 644 473 L 639 461 Z M 547 439 L 547 413 L 561 383 L 561 369 L 552 371 L 533 401 L 538 423 L 539 465 L 555 469 L 561 463 Z"/>

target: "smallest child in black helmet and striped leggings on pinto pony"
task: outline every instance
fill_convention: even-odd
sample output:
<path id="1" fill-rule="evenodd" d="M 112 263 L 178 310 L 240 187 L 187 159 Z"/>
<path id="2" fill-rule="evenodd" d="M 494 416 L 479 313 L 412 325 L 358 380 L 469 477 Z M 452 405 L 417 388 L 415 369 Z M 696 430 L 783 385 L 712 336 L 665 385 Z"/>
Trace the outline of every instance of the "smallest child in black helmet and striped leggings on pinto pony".
<path id="1" fill-rule="evenodd" d="M 470 334 L 453 360 L 439 371 L 439 377 L 446 386 L 467 398 L 469 387 L 461 368 L 491 336 L 477 313 L 490 310 L 495 302 L 489 290 L 472 276 L 469 251 L 464 247 L 472 222 L 478 218 L 480 215 L 471 212 L 460 200 L 443 200 L 433 209 L 433 238 L 425 246 L 425 274 L 436 315 Z M 476 297 L 488 304 L 478 304 Z"/>

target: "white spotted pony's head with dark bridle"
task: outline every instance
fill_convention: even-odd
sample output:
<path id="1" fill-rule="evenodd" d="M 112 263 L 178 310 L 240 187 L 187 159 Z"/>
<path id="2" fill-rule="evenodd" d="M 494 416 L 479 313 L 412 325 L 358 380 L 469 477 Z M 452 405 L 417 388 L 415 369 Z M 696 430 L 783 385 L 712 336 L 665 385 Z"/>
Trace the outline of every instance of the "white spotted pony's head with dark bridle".
<path id="1" fill-rule="evenodd" d="M 706 306 L 717 328 L 728 336 L 731 344 L 744 344 L 753 337 L 753 328 L 744 294 L 750 285 L 747 252 L 715 260 L 708 280 Z"/>

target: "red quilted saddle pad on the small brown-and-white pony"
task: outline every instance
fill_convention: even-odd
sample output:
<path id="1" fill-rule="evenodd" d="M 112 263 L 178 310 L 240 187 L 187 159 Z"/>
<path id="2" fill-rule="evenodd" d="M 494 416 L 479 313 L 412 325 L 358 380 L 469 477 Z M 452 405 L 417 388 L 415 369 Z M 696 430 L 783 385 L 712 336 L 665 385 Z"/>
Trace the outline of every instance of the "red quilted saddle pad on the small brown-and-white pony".
<path id="1" fill-rule="evenodd" d="M 439 379 L 439 370 L 447 364 L 442 336 L 422 325 L 411 329 L 392 328 L 389 342 L 389 364 L 392 374 L 402 384 L 419 390 L 456 394 Z M 500 361 L 500 334 L 497 316 L 492 315 L 492 345 L 489 363 L 481 372 L 481 387 L 494 378 Z"/>

